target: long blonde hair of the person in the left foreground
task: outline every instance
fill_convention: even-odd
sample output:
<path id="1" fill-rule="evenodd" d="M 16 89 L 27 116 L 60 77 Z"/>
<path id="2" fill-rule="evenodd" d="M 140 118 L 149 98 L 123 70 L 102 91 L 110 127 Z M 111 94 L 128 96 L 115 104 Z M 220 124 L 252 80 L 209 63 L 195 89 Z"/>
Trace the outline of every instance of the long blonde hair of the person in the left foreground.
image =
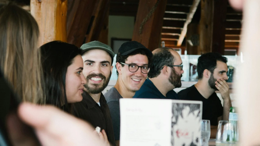
<path id="1" fill-rule="evenodd" d="M 22 101 L 45 104 L 39 28 L 33 16 L 15 4 L 0 8 L 0 66 Z"/>

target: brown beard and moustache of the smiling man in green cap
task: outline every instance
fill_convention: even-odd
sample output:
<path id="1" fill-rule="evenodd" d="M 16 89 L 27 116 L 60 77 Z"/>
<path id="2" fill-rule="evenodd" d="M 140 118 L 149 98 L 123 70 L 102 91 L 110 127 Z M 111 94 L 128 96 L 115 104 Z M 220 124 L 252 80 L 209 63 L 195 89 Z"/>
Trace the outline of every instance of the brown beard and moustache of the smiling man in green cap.
<path id="1" fill-rule="evenodd" d="M 87 89 L 87 92 L 91 93 L 91 94 L 101 93 L 105 89 L 105 87 L 107 87 L 107 85 L 109 83 L 109 80 L 110 80 L 110 77 L 111 77 L 111 74 L 112 74 L 112 72 L 110 71 L 110 74 L 109 74 L 108 78 L 106 78 L 101 73 L 99 73 L 99 74 L 95 74 L 95 73 L 89 74 L 86 77 L 87 83 L 84 84 L 84 87 Z M 89 83 L 88 81 L 91 80 L 92 77 L 101 77 L 103 79 L 103 84 L 100 85 L 100 84 L 94 84 L 94 83 L 91 84 L 91 83 Z M 89 85 L 89 84 L 91 84 L 91 85 Z M 94 86 L 94 87 L 91 87 L 91 86 Z M 101 87 L 99 87 L 99 86 L 101 86 Z"/>

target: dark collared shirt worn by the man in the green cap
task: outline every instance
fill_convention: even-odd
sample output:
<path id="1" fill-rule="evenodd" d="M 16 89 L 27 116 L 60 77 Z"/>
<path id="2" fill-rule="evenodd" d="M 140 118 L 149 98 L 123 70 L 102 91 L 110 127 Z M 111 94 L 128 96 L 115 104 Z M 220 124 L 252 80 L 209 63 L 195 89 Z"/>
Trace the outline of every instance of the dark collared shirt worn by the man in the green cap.
<path id="1" fill-rule="evenodd" d="M 83 91 L 82 97 L 82 101 L 74 104 L 75 116 L 91 123 L 94 128 L 98 126 L 101 130 L 104 129 L 107 134 L 108 141 L 112 145 L 116 145 L 109 107 L 104 95 L 102 93 L 100 95 L 100 106 L 86 91 Z"/>

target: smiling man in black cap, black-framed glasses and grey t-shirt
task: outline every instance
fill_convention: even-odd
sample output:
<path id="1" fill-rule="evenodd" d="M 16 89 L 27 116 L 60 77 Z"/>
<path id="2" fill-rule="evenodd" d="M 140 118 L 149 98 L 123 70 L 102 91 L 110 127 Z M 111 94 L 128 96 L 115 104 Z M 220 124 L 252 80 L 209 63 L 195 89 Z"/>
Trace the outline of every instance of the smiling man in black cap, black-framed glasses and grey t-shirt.
<path id="1" fill-rule="evenodd" d="M 120 140 L 119 99 L 133 98 L 144 83 L 150 68 L 152 52 L 137 41 L 123 43 L 116 56 L 118 79 L 116 85 L 105 93 L 111 113 L 116 145 Z"/>

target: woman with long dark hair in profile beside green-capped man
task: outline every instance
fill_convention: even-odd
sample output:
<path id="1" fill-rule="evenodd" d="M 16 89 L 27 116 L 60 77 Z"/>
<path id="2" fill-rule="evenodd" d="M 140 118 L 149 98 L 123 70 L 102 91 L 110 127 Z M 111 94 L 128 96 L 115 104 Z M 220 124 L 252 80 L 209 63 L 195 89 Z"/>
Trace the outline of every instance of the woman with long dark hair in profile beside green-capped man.
<path id="1" fill-rule="evenodd" d="M 73 113 L 72 103 L 82 100 L 86 79 L 82 74 L 81 50 L 75 45 L 52 41 L 40 47 L 46 84 L 46 104 Z"/>

